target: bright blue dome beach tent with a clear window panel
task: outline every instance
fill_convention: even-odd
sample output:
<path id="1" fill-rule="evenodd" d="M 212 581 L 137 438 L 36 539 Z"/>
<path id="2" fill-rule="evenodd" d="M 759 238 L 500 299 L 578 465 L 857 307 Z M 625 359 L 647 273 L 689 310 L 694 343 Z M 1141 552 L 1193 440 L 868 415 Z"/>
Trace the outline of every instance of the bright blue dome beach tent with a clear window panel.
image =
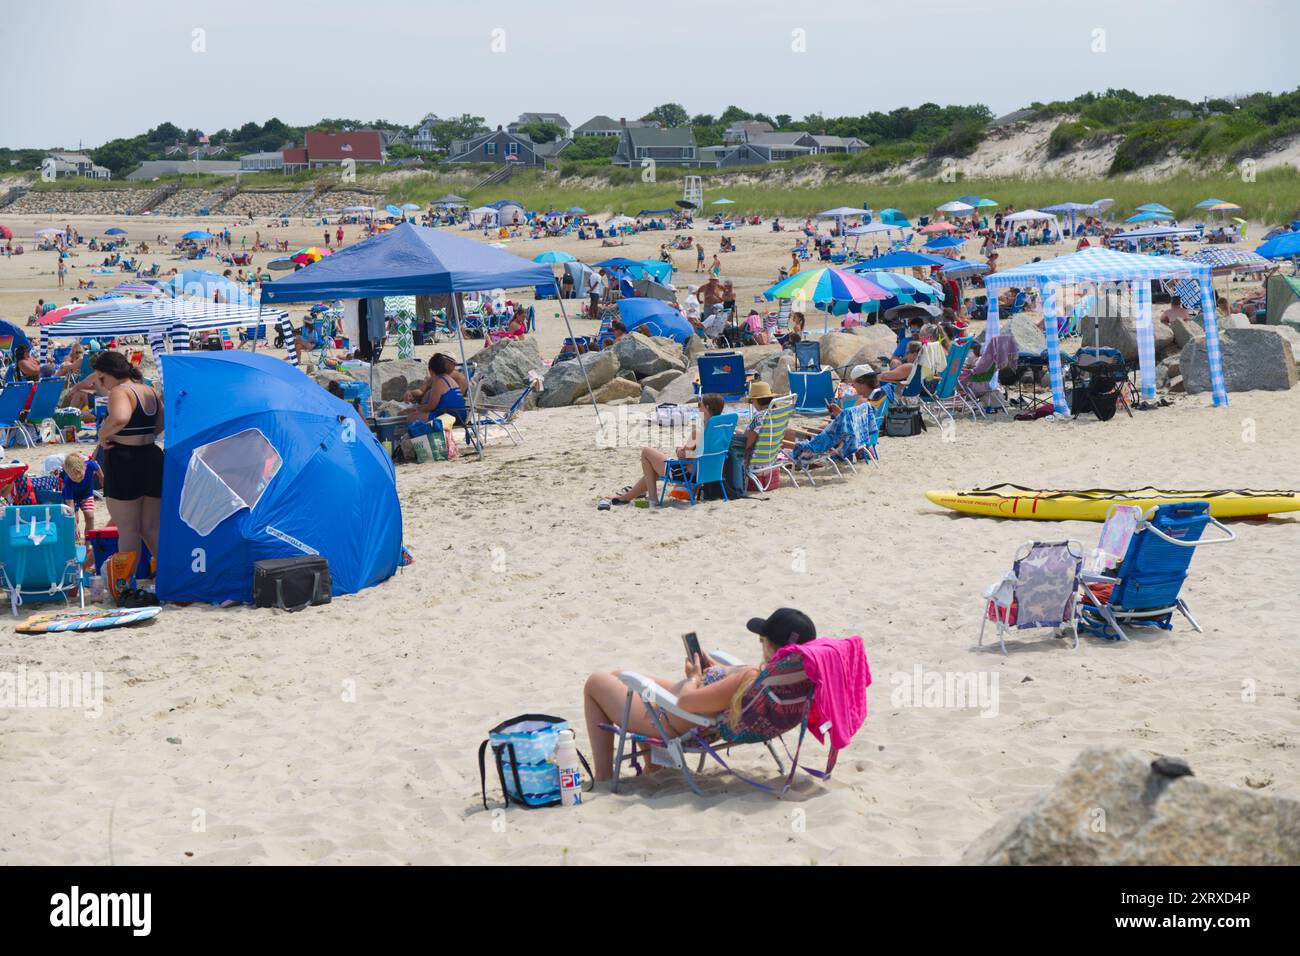
<path id="1" fill-rule="evenodd" d="M 325 557 L 335 594 L 396 571 L 393 460 L 351 405 L 261 354 L 164 355 L 162 373 L 160 598 L 251 602 L 268 558 Z"/>

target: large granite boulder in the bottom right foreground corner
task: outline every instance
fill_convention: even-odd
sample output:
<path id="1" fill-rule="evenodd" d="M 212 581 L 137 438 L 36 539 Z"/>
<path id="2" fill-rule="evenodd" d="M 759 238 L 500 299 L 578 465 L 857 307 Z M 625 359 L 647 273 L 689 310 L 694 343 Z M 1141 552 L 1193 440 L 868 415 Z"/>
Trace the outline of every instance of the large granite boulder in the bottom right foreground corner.
<path id="1" fill-rule="evenodd" d="M 1179 760 L 1092 748 L 979 836 L 962 862 L 1295 866 L 1300 801 L 1205 783 Z"/>

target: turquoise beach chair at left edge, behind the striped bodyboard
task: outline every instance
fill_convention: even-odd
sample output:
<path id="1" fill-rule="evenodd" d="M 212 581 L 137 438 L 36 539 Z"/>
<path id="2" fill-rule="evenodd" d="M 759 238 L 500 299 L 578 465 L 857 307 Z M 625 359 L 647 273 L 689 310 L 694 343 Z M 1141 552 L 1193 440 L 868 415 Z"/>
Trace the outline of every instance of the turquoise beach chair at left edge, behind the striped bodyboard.
<path id="1" fill-rule="evenodd" d="M 0 589 L 18 615 L 23 598 L 62 597 L 81 591 L 77 520 L 66 505 L 12 505 L 0 516 Z"/>

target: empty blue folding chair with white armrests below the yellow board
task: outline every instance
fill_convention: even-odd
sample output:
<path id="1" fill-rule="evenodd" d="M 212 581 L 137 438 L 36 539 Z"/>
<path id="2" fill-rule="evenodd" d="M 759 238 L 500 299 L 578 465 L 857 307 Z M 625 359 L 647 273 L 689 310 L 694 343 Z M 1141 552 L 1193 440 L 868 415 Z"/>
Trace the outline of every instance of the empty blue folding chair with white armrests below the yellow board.
<path id="1" fill-rule="evenodd" d="M 1202 538 L 1214 525 L 1223 536 Z M 1173 630 L 1178 611 L 1200 631 L 1187 602 L 1179 597 L 1197 545 L 1235 541 L 1236 535 L 1210 516 L 1206 501 L 1160 505 L 1134 529 L 1114 575 L 1084 574 L 1079 630 L 1108 640 L 1128 640 L 1124 627 Z"/>

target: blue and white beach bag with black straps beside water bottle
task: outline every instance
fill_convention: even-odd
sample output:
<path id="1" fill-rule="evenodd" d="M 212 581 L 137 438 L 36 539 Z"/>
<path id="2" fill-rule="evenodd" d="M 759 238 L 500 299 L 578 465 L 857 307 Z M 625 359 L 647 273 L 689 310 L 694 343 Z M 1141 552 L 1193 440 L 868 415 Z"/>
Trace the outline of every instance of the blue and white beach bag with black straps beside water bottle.
<path id="1" fill-rule="evenodd" d="M 549 714 L 520 714 L 502 721 L 478 744 L 478 788 L 488 809 L 488 750 L 504 805 L 558 806 L 560 803 L 560 770 L 552 761 L 559 745 L 560 731 L 569 730 L 568 721 Z M 577 756 L 586 771 L 588 791 L 594 790 L 595 778 L 586 757 Z"/>

